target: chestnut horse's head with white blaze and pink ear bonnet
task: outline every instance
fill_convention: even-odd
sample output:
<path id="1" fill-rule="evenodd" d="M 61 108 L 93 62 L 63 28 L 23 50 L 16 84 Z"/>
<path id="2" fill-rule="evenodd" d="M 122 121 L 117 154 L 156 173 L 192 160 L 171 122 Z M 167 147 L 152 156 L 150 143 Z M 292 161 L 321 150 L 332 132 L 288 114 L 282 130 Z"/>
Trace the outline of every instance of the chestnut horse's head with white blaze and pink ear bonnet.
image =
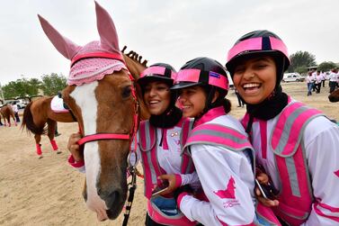
<path id="1" fill-rule="evenodd" d="M 85 46 L 65 38 L 38 16 L 49 41 L 71 60 L 62 98 L 84 136 L 79 143 L 85 144 L 85 203 L 104 221 L 119 216 L 127 197 L 127 158 L 139 120 L 130 73 L 140 71 L 126 66 L 135 60 L 122 55 L 111 16 L 96 2 L 95 12 L 100 41 Z"/>

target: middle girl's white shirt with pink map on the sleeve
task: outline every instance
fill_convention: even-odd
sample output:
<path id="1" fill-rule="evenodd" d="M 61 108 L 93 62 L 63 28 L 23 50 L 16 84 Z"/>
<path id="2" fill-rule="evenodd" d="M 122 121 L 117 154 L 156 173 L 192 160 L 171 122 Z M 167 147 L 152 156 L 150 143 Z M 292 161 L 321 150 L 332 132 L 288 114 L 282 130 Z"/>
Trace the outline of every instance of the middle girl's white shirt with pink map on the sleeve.
<path id="1" fill-rule="evenodd" d="M 207 123 L 227 125 L 245 134 L 242 125 L 232 116 L 222 115 Z M 220 146 L 193 144 L 192 159 L 204 193 L 210 202 L 185 195 L 180 209 L 191 221 L 204 225 L 245 225 L 254 221 L 254 174 L 250 159 L 242 151 Z M 233 178 L 235 198 L 222 198 L 216 193 L 226 190 Z"/>

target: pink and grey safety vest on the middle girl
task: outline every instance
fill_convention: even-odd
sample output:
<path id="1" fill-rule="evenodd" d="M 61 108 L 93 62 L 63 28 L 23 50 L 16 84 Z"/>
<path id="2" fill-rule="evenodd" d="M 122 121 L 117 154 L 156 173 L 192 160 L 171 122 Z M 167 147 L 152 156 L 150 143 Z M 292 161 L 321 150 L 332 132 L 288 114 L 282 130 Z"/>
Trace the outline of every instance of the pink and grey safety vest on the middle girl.
<path id="1" fill-rule="evenodd" d="M 250 151 L 250 156 L 254 157 L 254 149 L 245 134 L 220 124 L 205 123 L 195 127 L 191 131 L 187 142 L 184 143 L 184 151 L 191 154 L 190 146 L 192 144 L 210 144 L 233 151 Z M 252 158 L 252 166 L 254 171 L 254 158 Z M 255 212 L 257 217 L 262 218 L 267 223 L 271 225 L 281 225 L 271 208 L 257 203 Z M 254 221 L 251 225 L 256 224 L 257 222 Z"/>

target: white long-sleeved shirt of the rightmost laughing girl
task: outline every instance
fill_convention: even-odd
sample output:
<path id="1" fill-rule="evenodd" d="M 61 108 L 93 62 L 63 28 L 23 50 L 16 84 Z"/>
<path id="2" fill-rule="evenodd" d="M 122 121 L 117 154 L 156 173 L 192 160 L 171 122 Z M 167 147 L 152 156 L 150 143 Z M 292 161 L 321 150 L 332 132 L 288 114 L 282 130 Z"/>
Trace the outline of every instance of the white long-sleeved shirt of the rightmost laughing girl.
<path id="1" fill-rule="evenodd" d="M 278 117 L 275 117 L 267 121 L 268 138 L 270 138 L 277 120 Z M 256 138 L 253 140 L 253 146 L 256 150 L 257 163 L 265 168 L 266 172 L 272 177 L 273 185 L 279 189 L 278 175 L 276 175 L 277 166 L 272 149 L 269 147 L 269 141 L 266 142 L 266 158 L 263 158 L 259 122 L 254 122 L 252 129 L 253 138 Z M 336 211 L 332 212 L 320 205 L 317 208 L 326 216 L 339 217 L 339 126 L 325 117 L 317 117 L 308 123 L 302 139 L 306 149 L 308 170 L 312 178 L 313 194 L 316 198 L 315 203 L 312 204 L 308 221 L 303 225 L 338 225 L 338 221 L 317 214 L 314 207 L 316 203 L 331 206 L 336 208 Z M 337 172 L 337 175 L 335 172 Z"/>

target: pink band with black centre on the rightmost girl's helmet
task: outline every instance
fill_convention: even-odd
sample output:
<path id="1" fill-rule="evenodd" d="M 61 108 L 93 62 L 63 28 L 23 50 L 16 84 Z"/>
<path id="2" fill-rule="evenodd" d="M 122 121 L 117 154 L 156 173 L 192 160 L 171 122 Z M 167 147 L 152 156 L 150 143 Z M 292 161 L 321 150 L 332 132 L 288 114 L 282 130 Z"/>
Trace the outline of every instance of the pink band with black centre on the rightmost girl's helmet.
<path id="1" fill-rule="evenodd" d="M 280 39 L 270 37 L 255 37 L 244 41 L 239 41 L 228 51 L 226 68 L 232 69 L 232 61 L 238 57 L 243 57 L 258 53 L 271 53 L 279 51 L 288 60 L 284 69 L 290 65 L 290 58 L 287 47 Z M 232 73 L 231 73 L 232 74 Z"/>

